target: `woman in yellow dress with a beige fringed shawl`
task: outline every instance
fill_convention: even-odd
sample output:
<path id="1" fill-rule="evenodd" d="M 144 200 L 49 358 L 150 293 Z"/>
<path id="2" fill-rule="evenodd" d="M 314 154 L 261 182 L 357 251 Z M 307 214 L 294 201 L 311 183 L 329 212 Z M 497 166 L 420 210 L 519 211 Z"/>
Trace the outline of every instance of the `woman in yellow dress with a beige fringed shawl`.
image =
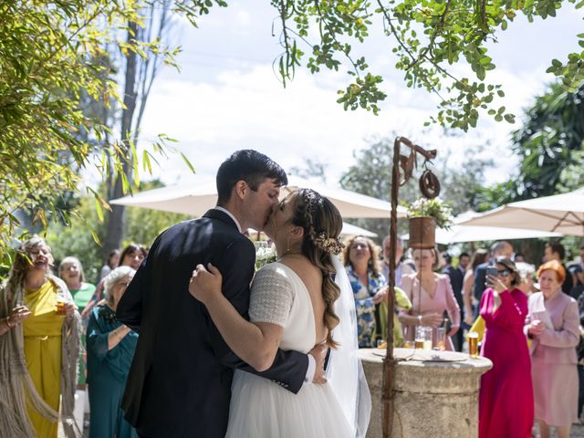
<path id="1" fill-rule="evenodd" d="M 68 437 L 73 421 L 80 318 L 65 283 L 51 274 L 53 256 L 33 236 L 15 256 L 0 288 L 0 431 L 57 438 L 59 397 Z"/>

